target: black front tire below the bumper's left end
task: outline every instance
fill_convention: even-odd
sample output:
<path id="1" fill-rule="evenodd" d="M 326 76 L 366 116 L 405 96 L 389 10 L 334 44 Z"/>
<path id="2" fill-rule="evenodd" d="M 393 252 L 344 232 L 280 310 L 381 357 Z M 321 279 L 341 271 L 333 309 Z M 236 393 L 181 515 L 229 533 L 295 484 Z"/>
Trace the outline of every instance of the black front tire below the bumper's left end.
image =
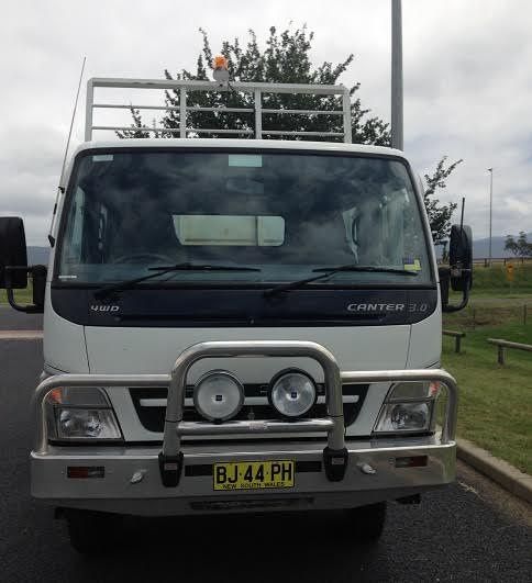
<path id="1" fill-rule="evenodd" d="M 81 554 L 103 554 L 121 540 L 121 517 L 114 514 L 68 509 L 65 512 L 71 547 Z"/>

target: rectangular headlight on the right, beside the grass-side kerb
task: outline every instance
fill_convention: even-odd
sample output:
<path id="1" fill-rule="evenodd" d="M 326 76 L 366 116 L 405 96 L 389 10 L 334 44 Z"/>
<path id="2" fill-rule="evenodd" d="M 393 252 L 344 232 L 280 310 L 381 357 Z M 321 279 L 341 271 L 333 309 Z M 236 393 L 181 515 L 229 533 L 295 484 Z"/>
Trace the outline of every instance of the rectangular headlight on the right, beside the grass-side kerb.
<path id="1" fill-rule="evenodd" d="M 432 430 L 439 393 L 439 383 L 415 381 L 392 385 L 380 410 L 375 433 Z"/>

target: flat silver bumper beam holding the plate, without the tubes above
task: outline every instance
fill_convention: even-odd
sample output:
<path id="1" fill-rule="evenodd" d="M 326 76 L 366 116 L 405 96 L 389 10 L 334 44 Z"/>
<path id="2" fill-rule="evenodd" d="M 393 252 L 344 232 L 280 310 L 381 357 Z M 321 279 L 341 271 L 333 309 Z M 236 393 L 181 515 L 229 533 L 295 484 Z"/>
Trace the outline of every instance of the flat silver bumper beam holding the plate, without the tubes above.
<path id="1" fill-rule="evenodd" d="M 32 495 L 55 506 L 157 516 L 213 512 L 351 508 L 396 500 L 452 482 L 456 445 L 436 438 L 347 442 L 347 471 L 341 482 L 323 470 L 325 442 L 187 446 L 176 487 L 160 481 L 158 451 L 151 448 L 51 447 L 32 452 Z M 401 458 L 426 456 L 422 467 L 396 467 Z M 296 460 L 295 486 L 279 490 L 214 491 L 212 464 L 223 461 Z M 68 478 L 68 467 L 102 467 L 103 478 Z M 365 473 L 367 468 L 375 473 Z M 138 478 L 142 479 L 138 480 Z"/>

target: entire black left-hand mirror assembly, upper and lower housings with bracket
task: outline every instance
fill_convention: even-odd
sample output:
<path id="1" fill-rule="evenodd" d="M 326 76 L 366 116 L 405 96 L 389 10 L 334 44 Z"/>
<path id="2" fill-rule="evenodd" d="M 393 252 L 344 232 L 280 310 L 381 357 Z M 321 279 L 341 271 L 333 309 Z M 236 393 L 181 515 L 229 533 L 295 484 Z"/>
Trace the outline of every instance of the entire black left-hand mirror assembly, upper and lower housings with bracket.
<path id="1" fill-rule="evenodd" d="M 20 305 L 14 299 L 13 290 L 27 288 L 27 273 L 32 274 L 33 304 Z M 7 290 L 8 301 L 14 310 L 26 314 L 44 311 L 46 268 L 27 267 L 24 223 L 18 216 L 0 217 L 0 289 Z"/>

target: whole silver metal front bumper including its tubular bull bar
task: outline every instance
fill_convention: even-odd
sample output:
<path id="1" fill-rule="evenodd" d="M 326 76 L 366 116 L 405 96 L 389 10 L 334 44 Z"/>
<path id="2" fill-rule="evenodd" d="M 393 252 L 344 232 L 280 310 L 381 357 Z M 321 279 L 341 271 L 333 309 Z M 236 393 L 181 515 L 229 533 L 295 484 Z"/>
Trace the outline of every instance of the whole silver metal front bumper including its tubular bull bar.
<path id="1" fill-rule="evenodd" d="M 310 357 L 323 368 L 328 416 L 287 421 L 182 421 L 190 367 L 202 358 Z M 447 386 L 441 436 L 346 440 L 342 382 L 436 381 Z M 167 386 L 163 448 L 51 446 L 45 399 L 58 386 Z M 56 506 L 137 515 L 179 515 L 257 509 L 342 508 L 394 500 L 454 480 L 457 388 L 442 370 L 340 371 L 334 356 L 309 341 L 202 343 L 177 358 L 170 374 L 62 374 L 36 389 L 37 442 L 32 452 L 32 494 Z M 182 441 L 184 436 L 326 434 L 323 441 Z M 300 439 L 300 438 L 298 438 Z M 293 460 L 289 489 L 214 491 L 212 464 Z M 81 470 L 81 468 L 90 470 Z M 86 475 L 84 474 L 86 471 Z M 91 475 L 88 478 L 88 475 Z"/>

